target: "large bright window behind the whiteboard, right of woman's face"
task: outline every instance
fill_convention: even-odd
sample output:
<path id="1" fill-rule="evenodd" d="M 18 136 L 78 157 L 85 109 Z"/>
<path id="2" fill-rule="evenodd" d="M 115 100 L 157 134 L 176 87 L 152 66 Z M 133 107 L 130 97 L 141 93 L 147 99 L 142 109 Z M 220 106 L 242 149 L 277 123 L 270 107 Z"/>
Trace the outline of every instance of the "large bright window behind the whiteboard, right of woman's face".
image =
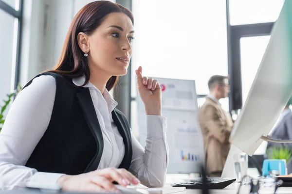
<path id="1" fill-rule="evenodd" d="M 135 69 L 140 65 L 145 76 L 195 80 L 199 95 L 209 93 L 212 75 L 228 75 L 226 0 L 132 0 L 132 11 L 132 97 L 137 96 Z M 223 101 L 228 111 L 228 98 Z M 136 102 L 131 108 L 135 129 Z"/>

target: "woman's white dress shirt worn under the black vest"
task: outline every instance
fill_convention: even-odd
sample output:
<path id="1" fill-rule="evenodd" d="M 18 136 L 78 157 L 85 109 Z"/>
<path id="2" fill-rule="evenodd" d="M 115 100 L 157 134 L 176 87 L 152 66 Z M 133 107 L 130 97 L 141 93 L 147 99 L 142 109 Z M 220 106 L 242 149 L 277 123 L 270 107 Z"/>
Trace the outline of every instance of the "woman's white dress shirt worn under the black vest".
<path id="1" fill-rule="evenodd" d="M 84 77 L 73 79 L 73 83 L 78 86 L 84 81 Z M 107 89 L 102 94 L 90 82 L 83 87 L 90 90 L 103 134 L 104 150 L 98 169 L 118 167 L 125 154 L 125 145 L 111 116 L 111 111 L 116 107 L 117 102 L 110 96 Z M 55 78 L 43 75 L 35 78 L 13 102 L 0 132 L 1 189 L 23 187 L 26 181 L 55 185 L 57 179 L 63 175 L 37 172 L 36 169 L 24 166 L 48 128 L 55 93 Z M 166 118 L 147 115 L 146 125 L 145 149 L 131 131 L 133 157 L 129 171 L 140 179 L 142 184 L 148 187 L 161 187 L 165 182 L 168 164 Z"/>

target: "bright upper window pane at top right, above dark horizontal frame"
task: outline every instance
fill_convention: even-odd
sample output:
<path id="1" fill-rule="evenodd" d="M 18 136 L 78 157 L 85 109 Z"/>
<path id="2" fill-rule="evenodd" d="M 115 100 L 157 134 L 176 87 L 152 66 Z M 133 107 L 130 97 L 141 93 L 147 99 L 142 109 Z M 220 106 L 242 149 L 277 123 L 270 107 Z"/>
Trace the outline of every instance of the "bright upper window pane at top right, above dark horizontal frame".
<path id="1" fill-rule="evenodd" d="M 230 25 L 274 22 L 284 0 L 229 0 Z"/>

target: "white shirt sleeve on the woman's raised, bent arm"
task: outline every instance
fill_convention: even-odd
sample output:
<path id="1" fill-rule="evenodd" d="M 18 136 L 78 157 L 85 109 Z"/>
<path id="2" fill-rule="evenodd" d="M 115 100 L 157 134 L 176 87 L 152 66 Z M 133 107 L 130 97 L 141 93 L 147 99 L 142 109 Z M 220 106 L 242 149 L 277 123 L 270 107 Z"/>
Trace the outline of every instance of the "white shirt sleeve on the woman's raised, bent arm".
<path id="1" fill-rule="evenodd" d="M 133 133 L 133 157 L 129 171 L 147 187 L 163 187 L 168 165 L 166 118 L 146 115 L 147 138 L 145 149 Z"/>

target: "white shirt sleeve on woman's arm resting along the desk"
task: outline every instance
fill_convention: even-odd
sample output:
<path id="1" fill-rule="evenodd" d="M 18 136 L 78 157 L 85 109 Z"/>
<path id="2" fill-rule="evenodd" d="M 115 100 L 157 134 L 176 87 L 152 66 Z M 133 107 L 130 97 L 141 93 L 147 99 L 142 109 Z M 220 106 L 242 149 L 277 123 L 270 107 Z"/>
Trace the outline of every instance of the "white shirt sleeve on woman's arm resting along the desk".
<path id="1" fill-rule="evenodd" d="M 55 93 L 55 78 L 40 76 L 14 100 L 0 132 L 0 189 L 23 187 L 27 181 L 54 185 L 63 175 L 24 166 L 48 128 Z"/>

